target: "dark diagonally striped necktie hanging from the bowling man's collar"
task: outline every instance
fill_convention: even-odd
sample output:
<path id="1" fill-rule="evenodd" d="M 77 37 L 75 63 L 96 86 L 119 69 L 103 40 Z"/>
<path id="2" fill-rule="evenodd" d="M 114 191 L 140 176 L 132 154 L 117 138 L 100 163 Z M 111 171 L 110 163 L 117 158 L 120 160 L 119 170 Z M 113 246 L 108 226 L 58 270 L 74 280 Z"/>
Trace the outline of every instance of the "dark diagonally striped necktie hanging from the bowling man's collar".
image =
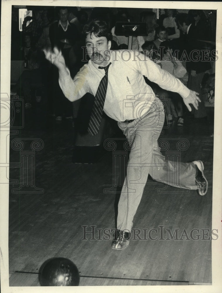
<path id="1" fill-rule="evenodd" d="M 101 66 L 98 67 L 99 69 L 105 70 L 105 75 L 101 79 L 100 84 L 98 86 L 98 90 L 95 94 L 95 102 L 94 102 L 91 117 L 89 120 L 88 131 L 92 135 L 95 135 L 99 132 L 100 122 L 103 115 L 103 107 L 105 103 L 106 91 L 107 91 L 108 69 L 110 64 L 107 65 L 106 67 L 101 67 Z"/>

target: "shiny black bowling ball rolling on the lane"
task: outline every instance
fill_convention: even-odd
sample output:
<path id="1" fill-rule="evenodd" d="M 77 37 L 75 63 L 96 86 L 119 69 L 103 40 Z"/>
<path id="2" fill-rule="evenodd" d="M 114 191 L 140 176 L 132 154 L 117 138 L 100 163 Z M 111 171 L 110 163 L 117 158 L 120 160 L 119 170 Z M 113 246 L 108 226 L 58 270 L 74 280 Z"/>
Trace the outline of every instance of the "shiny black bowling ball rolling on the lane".
<path id="1" fill-rule="evenodd" d="M 52 258 L 42 268 L 41 286 L 78 286 L 79 272 L 68 258 Z"/>

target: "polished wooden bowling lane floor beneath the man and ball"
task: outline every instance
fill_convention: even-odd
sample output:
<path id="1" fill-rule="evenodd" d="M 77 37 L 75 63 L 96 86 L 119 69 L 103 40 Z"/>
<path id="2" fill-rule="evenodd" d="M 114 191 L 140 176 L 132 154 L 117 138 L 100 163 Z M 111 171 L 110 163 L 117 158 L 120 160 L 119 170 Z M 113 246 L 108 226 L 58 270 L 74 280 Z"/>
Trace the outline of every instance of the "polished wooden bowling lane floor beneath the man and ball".
<path id="1" fill-rule="evenodd" d="M 36 272 L 52 257 L 66 257 L 77 265 L 82 276 L 80 286 L 212 282 L 210 240 L 137 239 L 131 240 L 123 251 L 111 249 L 112 233 L 108 240 L 90 240 L 91 234 L 86 234 L 88 240 L 82 240 L 82 226 L 87 226 L 87 231 L 90 226 L 115 228 L 115 194 L 103 193 L 104 188 L 112 186 L 112 153 L 105 154 L 95 164 L 72 164 L 72 140 L 67 132 L 22 135 L 41 137 L 44 141 L 44 148 L 35 157 L 36 186 L 44 188 L 44 193 L 10 193 L 10 286 L 39 286 Z M 134 228 L 157 229 L 158 238 L 161 226 L 165 238 L 166 229 L 172 233 L 179 229 L 180 238 L 184 229 L 189 236 L 194 228 L 199 231 L 213 228 L 213 138 L 209 134 L 192 136 L 190 132 L 176 135 L 191 142 L 189 150 L 181 153 L 182 161 L 192 161 L 197 156 L 204 161 L 209 191 L 204 197 L 195 190 L 180 193 L 173 187 L 169 187 L 168 193 L 159 193 L 158 189 L 164 185 L 149 178 Z M 17 160 L 15 151 L 11 152 L 11 160 L 13 155 Z M 11 168 L 10 175 L 16 179 L 18 169 Z M 155 232 L 152 236 L 156 236 Z M 95 239 L 98 238 L 96 230 Z"/>

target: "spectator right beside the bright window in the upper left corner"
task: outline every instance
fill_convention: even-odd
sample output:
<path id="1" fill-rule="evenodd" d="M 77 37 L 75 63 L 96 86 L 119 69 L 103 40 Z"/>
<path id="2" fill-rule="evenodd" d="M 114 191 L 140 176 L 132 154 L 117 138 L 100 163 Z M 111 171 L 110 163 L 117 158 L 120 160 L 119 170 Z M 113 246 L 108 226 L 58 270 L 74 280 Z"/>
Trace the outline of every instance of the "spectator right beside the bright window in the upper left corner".
<path id="1" fill-rule="evenodd" d="M 29 33 L 32 36 L 33 45 L 36 44 L 38 39 L 42 34 L 43 29 L 43 21 L 42 21 L 42 12 L 43 9 L 36 8 L 33 10 L 33 17 L 26 16 L 23 24 L 22 24 L 22 31 L 23 33 Z M 27 22 L 31 21 L 27 26 Z"/>

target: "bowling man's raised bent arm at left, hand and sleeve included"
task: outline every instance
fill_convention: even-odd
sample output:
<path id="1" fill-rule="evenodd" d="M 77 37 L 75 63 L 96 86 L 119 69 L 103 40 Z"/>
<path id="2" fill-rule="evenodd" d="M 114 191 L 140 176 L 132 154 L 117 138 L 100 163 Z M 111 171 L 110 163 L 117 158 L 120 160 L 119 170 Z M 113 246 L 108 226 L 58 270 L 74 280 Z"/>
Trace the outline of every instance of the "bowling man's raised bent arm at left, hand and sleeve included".
<path id="1" fill-rule="evenodd" d="M 77 73 L 74 80 L 71 78 L 61 51 L 55 47 L 53 51 L 44 50 L 44 53 L 46 59 L 59 69 L 59 85 L 68 100 L 73 102 L 88 92 L 86 77 L 84 74 Z"/>

